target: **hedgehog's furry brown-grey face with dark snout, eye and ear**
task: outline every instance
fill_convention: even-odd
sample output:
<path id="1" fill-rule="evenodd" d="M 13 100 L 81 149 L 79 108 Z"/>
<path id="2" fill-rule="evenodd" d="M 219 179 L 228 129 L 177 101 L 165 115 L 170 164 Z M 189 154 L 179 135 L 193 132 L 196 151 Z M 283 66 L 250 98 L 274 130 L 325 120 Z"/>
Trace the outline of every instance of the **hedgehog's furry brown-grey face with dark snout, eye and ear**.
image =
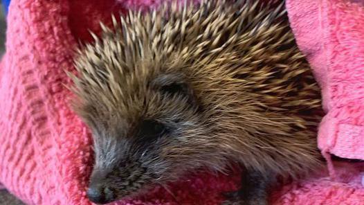
<path id="1" fill-rule="evenodd" d="M 216 153 L 208 141 L 212 128 L 183 74 L 132 73 L 127 79 L 113 95 L 115 104 L 104 99 L 111 93 L 98 91 L 80 108 L 93 130 L 95 166 L 87 195 L 96 203 L 178 179 L 212 163 Z"/>

